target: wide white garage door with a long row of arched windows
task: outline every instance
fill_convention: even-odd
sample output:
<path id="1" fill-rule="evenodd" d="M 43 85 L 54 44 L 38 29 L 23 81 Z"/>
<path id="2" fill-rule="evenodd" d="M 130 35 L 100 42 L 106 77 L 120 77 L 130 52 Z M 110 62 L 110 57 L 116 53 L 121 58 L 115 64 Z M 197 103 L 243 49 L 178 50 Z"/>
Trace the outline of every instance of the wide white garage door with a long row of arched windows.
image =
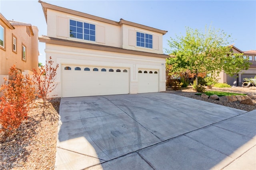
<path id="1" fill-rule="evenodd" d="M 128 68 L 62 65 L 62 97 L 129 94 Z"/>

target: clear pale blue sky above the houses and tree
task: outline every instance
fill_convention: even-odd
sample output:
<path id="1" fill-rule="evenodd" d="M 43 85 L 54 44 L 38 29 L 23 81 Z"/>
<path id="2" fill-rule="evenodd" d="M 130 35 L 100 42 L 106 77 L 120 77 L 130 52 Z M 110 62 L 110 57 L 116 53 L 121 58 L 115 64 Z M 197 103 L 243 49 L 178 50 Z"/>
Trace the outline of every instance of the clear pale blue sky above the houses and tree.
<path id="1" fill-rule="evenodd" d="M 256 50 L 256 0 L 214 1 L 86 1 L 43 0 L 44 2 L 77 10 L 109 20 L 140 23 L 168 31 L 163 37 L 163 47 L 175 35 L 184 35 L 185 27 L 204 30 L 205 25 L 223 29 L 242 50 Z M 0 0 L 0 12 L 7 20 L 31 23 L 40 35 L 47 35 L 47 25 L 38 0 Z M 39 62 L 45 63 L 45 44 L 39 43 Z M 164 50 L 165 51 L 165 50 Z"/>

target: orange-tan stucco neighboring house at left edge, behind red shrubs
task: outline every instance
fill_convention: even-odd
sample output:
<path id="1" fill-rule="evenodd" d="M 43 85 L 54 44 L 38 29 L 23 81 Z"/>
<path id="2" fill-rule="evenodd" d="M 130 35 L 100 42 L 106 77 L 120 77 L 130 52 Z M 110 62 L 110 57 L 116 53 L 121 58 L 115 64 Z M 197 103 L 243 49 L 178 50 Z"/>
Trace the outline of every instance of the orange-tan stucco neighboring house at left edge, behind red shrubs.
<path id="1" fill-rule="evenodd" d="M 0 13 L 0 84 L 12 65 L 26 74 L 38 69 L 38 28 L 29 23 L 6 20 Z"/>

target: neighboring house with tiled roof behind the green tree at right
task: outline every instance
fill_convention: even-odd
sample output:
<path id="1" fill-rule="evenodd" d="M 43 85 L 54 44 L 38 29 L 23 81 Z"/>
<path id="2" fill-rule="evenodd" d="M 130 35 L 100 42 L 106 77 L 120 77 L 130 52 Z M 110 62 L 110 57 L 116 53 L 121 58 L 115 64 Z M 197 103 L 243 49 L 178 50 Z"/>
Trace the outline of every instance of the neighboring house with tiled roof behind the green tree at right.
<path id="1" fill-rule="evenodd" d="M 250 50 L 250 51 L 241 51 L 240 49 L 236 47 L 232 47 L 232 50 L 234 53 L 243 53 L 244 58 L 249 59 L 250 63 L 252 63 L 248 70 L 242 70 L 238 74 L 235 74 L 234 76 L 228 76 L 225 72 L 221 72 L 220 80 L 221 83 L 227 83 L 231 86 L 242 86 L 242 83 L 244 82 L 244 78 L 254 78 L 256 76 L 256 50 Z M 236 81 L 236 84 L 234 82 Z"/>

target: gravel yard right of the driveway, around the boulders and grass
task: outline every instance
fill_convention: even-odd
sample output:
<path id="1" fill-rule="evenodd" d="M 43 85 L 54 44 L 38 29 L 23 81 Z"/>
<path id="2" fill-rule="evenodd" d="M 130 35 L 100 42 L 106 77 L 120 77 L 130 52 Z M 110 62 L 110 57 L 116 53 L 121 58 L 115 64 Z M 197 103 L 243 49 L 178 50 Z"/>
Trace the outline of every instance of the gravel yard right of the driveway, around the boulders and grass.
<path id="1" fill-rule="evenodd" d="M 249 88 L 243 88 L 243 87 L 232 87 L 232 88 L 212 87 L 212 89 L 206 89 L 206 91 L 207 90 L 209 90 L 209 91 L 223 91 L 223 92 L 234 92 L 234 93 L 242 93 L 242 94 L 253 93 L 254 97 L 252 98 L 252 101 L 254 102 L 254 106 L 253 105 L 240 104 L 240 102 L 238 102 L 238 101 L 236 101 L 236 102 L 223 102 L 223 101 L 219 101 L 219 100 L 203 99 L 203 98 L 201 98 L 201 96 L 195 95 L 196 92 L 193 90 L 193 88 L 191 86 L 189 86 L 188 88 L 182 88 L 182 90 L 172 90 L 172 88 L 167 88 L 166 90 L 167 90 L 166 93 L 177 94 L 177 95 L 180 95 L 180 96 L 185 96 L 185 97 L 188 97 L 188 98 L 202 100 L 202 101 L 205 101 L 205 102 L 211 102 L 211 103 L 214 103 L 214 104 L 219 104 L 219 105 L 222 105 L 222 106 L 228 106 L 228 107 L 241 109 L 241 110 L 245 110 L 245 111 L 252 111 L 252 110 L 256 109 L 256 90 L 255 89 L 249 89 Z"/>

